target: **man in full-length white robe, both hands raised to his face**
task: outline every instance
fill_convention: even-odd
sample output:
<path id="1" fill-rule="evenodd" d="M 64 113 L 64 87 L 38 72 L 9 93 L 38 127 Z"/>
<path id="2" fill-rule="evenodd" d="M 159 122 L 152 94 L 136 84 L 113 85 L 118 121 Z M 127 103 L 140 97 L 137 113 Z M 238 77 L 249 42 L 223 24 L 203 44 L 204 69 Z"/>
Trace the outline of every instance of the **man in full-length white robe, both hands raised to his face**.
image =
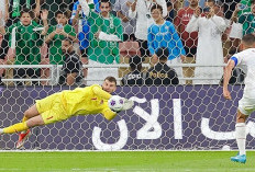
<path id="1" fill-rule="evenodd" d="M 199 32 L 198 51 L 196 62 L 199 66 L 215 66 L 223 64 L 222 33 L 226 28 L 223 18 L 214 14 L 213 8 L 206 3 L 204 16 L 200 16 L 200 9 L 197 8 L 193 16 L 186 27 L 187 32 Z M 219 84 L 219 80 L 214 79 L 222 76 L 222 67 L 197 67 L 195 70 L 196 78 L 204 78 L 196 80 L 197 84 Z M 214 80 L 213 80 L 214 79 Z"/>

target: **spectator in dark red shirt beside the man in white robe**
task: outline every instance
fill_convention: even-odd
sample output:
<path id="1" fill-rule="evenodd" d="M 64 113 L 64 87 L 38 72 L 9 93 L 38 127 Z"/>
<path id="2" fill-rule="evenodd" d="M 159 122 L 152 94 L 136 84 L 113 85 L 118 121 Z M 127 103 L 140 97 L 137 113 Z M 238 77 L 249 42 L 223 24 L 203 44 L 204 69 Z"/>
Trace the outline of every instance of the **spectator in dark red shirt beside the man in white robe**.
<path id="1" fill-rule="evenodd" d="M 189 0 L 189 7 L 180 9 L 177 13 L 177 16 L 175 18 L 175 26 L 178 34 L 180 35 L 186 51 L 186 57 L 182 60 L 184 64 L 196 62 L 198 32 L 196 31 L 188 33 L 185 31 L 185 28 L 193 15 L 195 10 L 199 7 L 198 2 L 199 0 Z M 185 78 L 192 78 L 195 68 L 184 67 L 182 72 Z M 186 84 L 192 84 L 192 80 L 186 80 Z"/>

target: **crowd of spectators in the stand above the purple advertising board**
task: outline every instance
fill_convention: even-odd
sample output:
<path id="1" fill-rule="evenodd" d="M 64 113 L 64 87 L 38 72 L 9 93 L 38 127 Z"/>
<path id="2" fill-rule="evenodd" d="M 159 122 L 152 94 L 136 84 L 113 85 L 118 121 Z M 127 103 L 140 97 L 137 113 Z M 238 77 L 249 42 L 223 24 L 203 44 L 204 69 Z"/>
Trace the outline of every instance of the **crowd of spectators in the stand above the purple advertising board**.
<path id="1" fill-rule="evenodd" d="M 107 76 L 123 77 L 123 85 L 219 84 L 222 65 L 255 28 L 254 0 L 3 1 L 0 65 L 62 66 L 60 74 L 58 68 L 0 68 L 0 79 L 52 78 L 32 84 L 91 84 Z M 125 59 L 126 74 L 109 66 Z M 245 71 L 233 73 L 233 83 L 242 83 Z"/>

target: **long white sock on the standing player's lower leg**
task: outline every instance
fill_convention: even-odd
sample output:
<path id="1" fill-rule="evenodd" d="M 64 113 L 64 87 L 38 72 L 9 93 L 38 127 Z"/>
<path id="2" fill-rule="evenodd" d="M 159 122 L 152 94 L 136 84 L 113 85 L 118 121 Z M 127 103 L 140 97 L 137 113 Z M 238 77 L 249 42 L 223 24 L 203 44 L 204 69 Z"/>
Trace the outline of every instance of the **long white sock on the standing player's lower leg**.
<path id="1" fill-rule="evenodd" d="M 235 125 L 235 138 L 237 147 L 240 150 L 240 156 L 246 154 L 245 144 L 246 144 L 246 125 L 245 123 L 236 123 Z"/>

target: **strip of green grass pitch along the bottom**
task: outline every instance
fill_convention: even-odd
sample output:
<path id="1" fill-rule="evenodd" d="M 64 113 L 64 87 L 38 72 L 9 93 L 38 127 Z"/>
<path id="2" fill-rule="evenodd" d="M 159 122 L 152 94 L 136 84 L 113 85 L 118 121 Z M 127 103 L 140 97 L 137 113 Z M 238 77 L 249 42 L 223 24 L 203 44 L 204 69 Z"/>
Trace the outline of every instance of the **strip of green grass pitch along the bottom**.
<path id="1" fill-rule="evenodd" d="M 254 172 L 255 152 L 246 164 L 234 151 L 81 151 L 0 152 L 0 172 Z"/>

